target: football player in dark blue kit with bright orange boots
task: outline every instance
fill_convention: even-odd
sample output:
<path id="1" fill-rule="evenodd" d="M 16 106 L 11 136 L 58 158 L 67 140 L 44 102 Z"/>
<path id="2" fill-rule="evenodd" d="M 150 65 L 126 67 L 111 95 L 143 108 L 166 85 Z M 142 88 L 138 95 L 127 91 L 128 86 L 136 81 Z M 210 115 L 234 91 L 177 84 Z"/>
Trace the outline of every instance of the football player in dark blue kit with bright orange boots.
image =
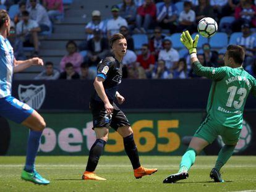
<path id="1" fill-rule="evenodd" d="M 94 171 L 108 141 L 109 127 L 114 128 L 122 136 L 124 149 L 132 163 L 135 178 L 151 175 L 157 171 L 157 169 L 146 169 L 140 165 L 130 123 L 124 112 L 114 104 L 114 99 L 117 99 L 119 104 L 124 102 L 124 97 L 118 93 L 117 88 L 122 81 L 121 62 L 126 54 L 127 41 L 120 33 L 111 36 L 109 41 L 114 57 L 106 57 L 98 64 L 98 72 L 93 83 L 95 90 L 90 99 L 96 141 L 90 149 L 87 167 L 82 176 L 83 180 L 106 180 L 98 177 Z"/>

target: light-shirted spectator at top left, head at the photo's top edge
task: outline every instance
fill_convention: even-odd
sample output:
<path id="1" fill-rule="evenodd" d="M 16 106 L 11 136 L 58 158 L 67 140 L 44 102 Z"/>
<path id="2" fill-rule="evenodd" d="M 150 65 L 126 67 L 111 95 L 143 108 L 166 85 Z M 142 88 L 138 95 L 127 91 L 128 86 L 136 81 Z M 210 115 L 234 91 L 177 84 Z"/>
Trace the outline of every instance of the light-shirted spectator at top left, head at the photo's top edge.
<path id="1" fill-rule="evenodd" d="M 35 20 L 41 28 L 41 31 L 49 31 L 51 28 L 51 21 L 45 7 L 40 3 L 36 3 L 36 0 L 30 0 L 31 7 L 28 9 L 30 12 L 30 19 Z"/>

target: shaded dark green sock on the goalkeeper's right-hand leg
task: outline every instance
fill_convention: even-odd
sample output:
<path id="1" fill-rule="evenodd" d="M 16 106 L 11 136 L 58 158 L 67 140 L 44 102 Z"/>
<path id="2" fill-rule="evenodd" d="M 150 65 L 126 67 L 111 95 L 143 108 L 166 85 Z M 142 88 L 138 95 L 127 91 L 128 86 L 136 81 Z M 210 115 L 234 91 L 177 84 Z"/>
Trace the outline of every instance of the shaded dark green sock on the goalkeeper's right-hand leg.
<path id="1" fill-rule="evenodd" d="M 223 167 L 223 165 L 226 164 L 228 159 L 232 156 L 235 147 L 236 146 L 234 146 L 234 145 L 225 144 L 221 148 L 221 150 L 218 154 L 218 159 L 217 159 L 216 164 L 215 164 L 215 169 L 220 171 L 221 167 Z"/>

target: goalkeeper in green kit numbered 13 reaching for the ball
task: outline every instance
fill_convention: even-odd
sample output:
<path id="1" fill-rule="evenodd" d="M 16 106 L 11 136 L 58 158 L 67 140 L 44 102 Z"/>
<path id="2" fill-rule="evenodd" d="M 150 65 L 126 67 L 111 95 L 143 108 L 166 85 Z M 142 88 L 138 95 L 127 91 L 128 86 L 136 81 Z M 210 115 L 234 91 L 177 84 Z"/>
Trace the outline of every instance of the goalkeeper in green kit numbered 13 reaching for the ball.
<path id="1" fill-rule="evenodd" d="M 256 80 L 243 68 L 244 49 L 229 45 L 224 54 L 224 67 L 203 67 L 197 59 L 197 42 L 192 40 L 189 31 L 182 32 L 181 42 L 189 49 L 193 71 L 196 75 L 213 80 L 207 103 L 207 117 L 190 141 L 189 148 L 182 156 L 179 172 L 169 175 L 163 183 L 175 183 L 189 177 L 189 169 L 195 157 L 203 148 L 211 144 L 218 135 L 223 139 L 215 167 L 210 177 L 215 182 L 224 182 L 220 169 L 232 156 L 242 129 L 244 105 L 249 93 L 256 96 Z"/>

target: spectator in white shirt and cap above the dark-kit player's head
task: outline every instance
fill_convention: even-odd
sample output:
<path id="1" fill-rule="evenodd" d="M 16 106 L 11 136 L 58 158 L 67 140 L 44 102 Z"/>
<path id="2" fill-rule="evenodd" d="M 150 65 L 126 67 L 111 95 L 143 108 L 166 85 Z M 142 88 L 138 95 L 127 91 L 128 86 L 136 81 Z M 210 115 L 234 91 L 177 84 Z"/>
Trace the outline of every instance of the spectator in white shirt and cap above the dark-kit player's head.
<path id="1" fill-rule="evenodd" d="M 107 27 L 106 27 L 107 33 L 108 33 L 108 38 L 110 38 L 115 33 L 118 33 L 119 28 L 121 26 L 128 27 L 126 20 L 119 16 L 119 7 L 118 6 L 112 6 L 111 12 L 113 15 L 113 19 L 108 20 Z"/>

